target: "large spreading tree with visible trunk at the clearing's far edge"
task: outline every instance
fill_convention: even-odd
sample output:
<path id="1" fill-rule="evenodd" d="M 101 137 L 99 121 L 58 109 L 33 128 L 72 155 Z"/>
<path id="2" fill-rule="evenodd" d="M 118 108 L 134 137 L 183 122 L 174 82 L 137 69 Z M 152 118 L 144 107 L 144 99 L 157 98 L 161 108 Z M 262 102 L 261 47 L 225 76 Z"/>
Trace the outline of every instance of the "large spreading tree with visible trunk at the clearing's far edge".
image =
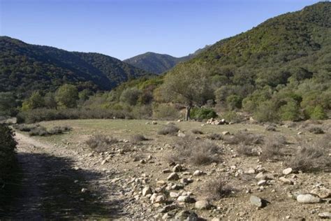
<path id="1" fill-rule="evenodd" d="M 203 66 L 178 66 L 164 78 L 162 94 L 165 100 L 175 101 L 186 106 L 185 119 L 190 119 L 191 108 L 202 106 L 209 99 L 214 99 L 209 87 L 208 72 Z"/>

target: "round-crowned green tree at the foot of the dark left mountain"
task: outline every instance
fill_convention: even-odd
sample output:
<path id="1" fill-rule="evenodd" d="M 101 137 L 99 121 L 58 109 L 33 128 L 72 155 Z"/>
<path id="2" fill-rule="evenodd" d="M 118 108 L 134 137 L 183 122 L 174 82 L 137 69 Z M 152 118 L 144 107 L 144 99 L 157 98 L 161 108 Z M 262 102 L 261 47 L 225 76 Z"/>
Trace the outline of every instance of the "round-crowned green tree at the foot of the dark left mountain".
<path id="1" fill-rule="evenodd" d="M 55 100 L 62 108 L 75 108 L 78 101 L 78 90 L 74 85 L 62 85 L 56 92 Z"/>

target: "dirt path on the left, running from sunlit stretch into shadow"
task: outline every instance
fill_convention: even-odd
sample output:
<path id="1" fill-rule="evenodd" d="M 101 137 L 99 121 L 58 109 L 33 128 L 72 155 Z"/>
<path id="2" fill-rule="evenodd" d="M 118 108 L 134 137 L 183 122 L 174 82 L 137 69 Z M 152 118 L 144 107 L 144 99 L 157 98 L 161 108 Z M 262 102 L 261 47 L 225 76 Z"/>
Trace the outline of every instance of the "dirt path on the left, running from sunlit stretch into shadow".
<path id="1" fill-rule="evenodd" d="M 75 152 L 54 148 L 17 133 L 22 168 L 20 191 L 0 218 L 11 220 L 125 218 L 116 185 L 99 185 L 110 174 L 82 169 Z M 80 165 L 78 168 L 77 165 Z M 87 190 L 87 191 L 84 191 Z"/>

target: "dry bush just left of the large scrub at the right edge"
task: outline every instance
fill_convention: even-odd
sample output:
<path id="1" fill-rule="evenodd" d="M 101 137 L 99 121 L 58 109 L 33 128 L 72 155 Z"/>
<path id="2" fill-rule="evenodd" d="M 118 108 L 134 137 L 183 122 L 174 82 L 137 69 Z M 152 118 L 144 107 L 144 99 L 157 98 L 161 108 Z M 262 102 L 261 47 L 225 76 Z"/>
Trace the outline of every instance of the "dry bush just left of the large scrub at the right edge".
<path id="1" fill-rule="evenodd" d="M 262 152 L 260 155 L 261 160 L 277 160 L 279 156 L 284 155 L 283 148 L 286 144 L 286 138 L 284 136 L 271 136 L 266 139 L 262 146 Z"/>

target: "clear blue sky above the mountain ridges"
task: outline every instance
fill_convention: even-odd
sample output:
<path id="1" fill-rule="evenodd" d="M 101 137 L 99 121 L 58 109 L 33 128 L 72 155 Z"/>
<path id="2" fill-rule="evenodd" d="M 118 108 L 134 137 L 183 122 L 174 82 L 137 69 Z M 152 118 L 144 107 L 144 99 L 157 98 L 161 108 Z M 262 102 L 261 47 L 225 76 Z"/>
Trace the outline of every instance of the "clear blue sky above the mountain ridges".
<path id="1" fill-rule="evenodd" d="M 0 35 L 126 59 L 182 57 L 316 0 L 0 0 Z"/>

